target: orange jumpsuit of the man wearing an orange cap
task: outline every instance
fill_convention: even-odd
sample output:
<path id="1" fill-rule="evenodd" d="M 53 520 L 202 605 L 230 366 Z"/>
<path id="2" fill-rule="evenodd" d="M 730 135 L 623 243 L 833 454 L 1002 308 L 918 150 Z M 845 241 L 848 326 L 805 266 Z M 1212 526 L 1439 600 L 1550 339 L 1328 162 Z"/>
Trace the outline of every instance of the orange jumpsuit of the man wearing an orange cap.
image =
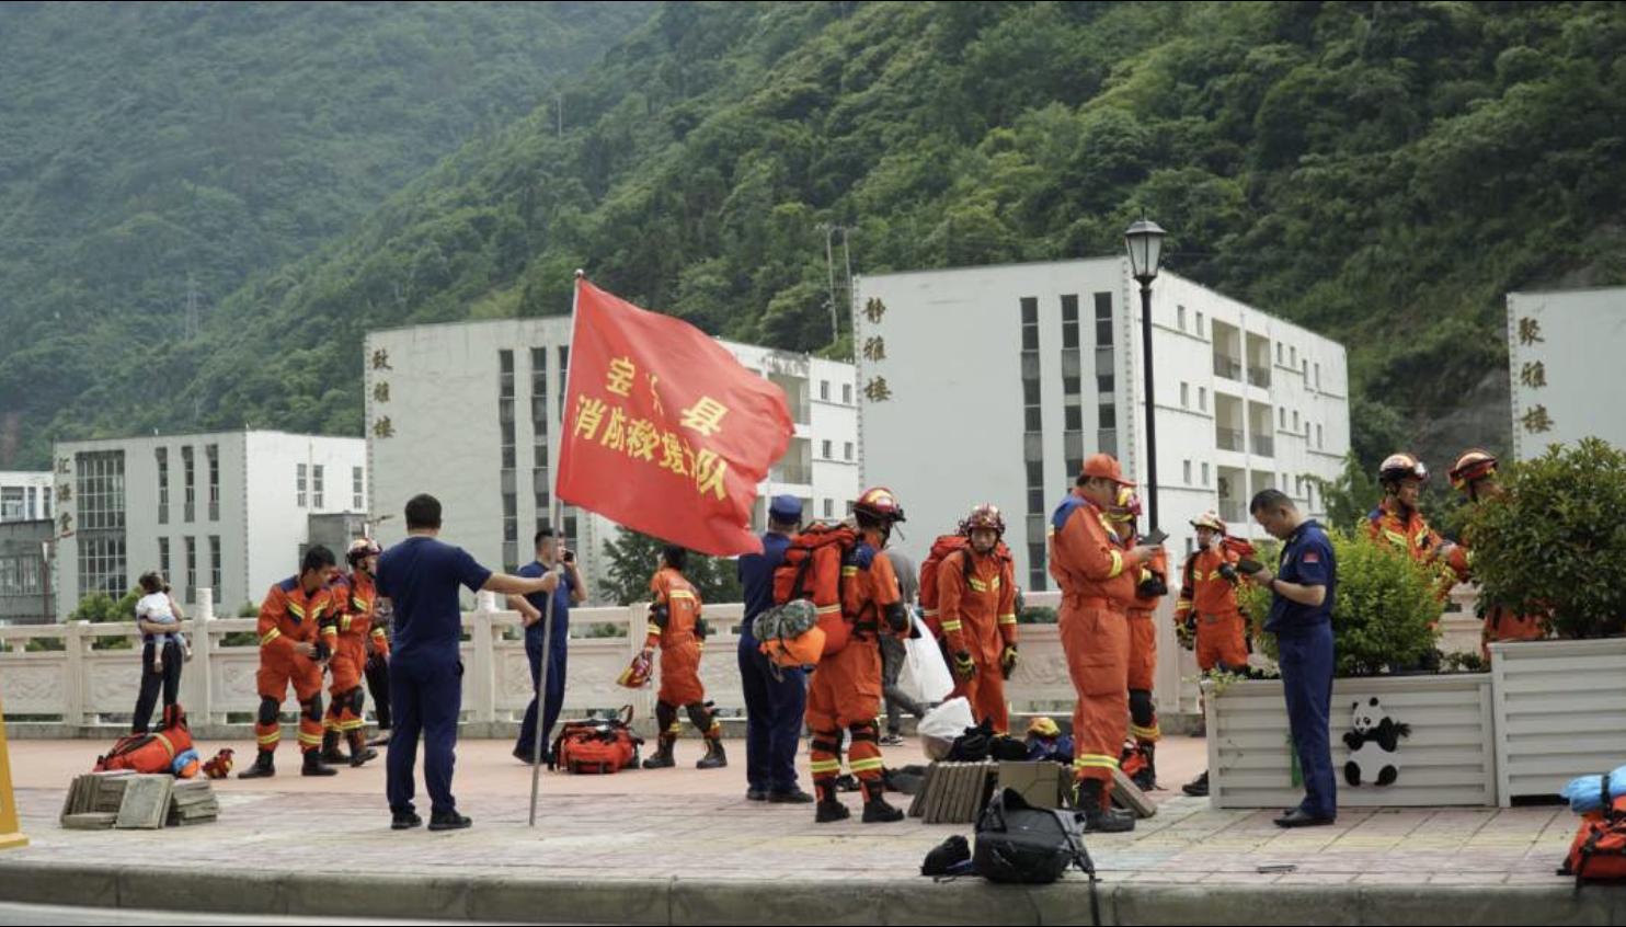
<path id="1" fill-rule="evenodd" d="M 1078 691 L 1073 772 L 1107 784 L 1102 808 L 1128 729 L 1127 611 L 1141 566 L 1114 538 L 1101 509 L 1076 490 L 1050 517 L 1050 576 L 1062 589 L 1057 631 Z"/>

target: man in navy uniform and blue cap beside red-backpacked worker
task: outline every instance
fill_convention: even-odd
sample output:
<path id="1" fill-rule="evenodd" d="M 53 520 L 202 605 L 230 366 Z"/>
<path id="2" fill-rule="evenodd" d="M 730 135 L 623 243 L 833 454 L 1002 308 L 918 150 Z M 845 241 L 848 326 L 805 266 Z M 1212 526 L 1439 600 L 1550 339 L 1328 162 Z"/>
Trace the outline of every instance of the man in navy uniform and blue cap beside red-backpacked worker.
<path id="1" fill-rule="evenodd" d="M 740 625 L 740 680 L 745 685 L 745 797 L 751 802 L 806 803 L 797 786 L 797 746 L 808 681 L 800 668 L 776 670 L 758 649 L 751 621 L 774 607 L 774 569 L 785 561 L 790 535 L 802 527 L 802 499 L 774 496 L 767 507 L 763 553 L 740 558 L 745 623 Z"/>

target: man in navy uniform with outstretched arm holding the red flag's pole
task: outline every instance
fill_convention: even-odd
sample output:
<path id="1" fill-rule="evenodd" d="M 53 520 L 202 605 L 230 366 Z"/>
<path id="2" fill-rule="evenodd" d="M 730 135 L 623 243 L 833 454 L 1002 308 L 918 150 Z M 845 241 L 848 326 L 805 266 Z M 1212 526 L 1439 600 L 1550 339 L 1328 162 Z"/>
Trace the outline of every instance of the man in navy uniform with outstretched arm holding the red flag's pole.
<path id="1" fill-rule="evenodd" d="M 406 503 L 406 540 L 379 556 L 377 589 L 395 603 L 390 655 L 390 707 L 395 727 L 385 763 L 390 828 L 423 823 L 413 808 L 413 766 L 423 735 L 423 781 L 433 802 L 431 831 L 454 831 L 473 821 L 457 813 L 452 764 L 457 759 L 457 716 L 463 706 L 463 662 L 459 639 L 463 611 L 457 587 L 509 595 L 543 592 L 545 579 L 491 572 L 468 551 L 441 543 L 441 503 L 420 494 Z"/>

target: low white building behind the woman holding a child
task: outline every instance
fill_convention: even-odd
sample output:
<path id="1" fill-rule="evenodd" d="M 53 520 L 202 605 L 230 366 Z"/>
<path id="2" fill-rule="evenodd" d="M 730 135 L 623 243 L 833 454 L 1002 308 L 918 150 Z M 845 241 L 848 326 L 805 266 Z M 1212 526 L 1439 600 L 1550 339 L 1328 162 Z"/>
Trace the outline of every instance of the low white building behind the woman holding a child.
<path id="1" fill-rule="evenodd" d="M 55 462 L 59 620 L 93 592 L 124 595 L 150 569 L 184 602 L 213 589 L 220 613 L 259 603 L 298 572 L 312 530 L 366 503 L 359 437 L 231 431 L 70 441 L 55 446 Z"/>

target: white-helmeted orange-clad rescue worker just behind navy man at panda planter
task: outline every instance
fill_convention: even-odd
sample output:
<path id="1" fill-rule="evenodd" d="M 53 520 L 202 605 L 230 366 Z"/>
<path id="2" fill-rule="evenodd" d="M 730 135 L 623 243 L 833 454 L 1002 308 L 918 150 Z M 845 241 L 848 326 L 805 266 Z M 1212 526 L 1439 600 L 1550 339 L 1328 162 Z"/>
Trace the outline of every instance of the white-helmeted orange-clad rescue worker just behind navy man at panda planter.
<path id="1" fill-rule="evenodd" d="M 1182 568 L 1180 598 L 1174 603 L 1174 623 L 1182 641 L 1197 651 L 1197 667 L 1208 673 L 1241 673 L 1247 670 L 1247 618 L 1236 602 L 1241 574 L 1239 553 L 1224 545 L 1226 524 L 1218 512 L 1203 512 L 1192 520 L 1197 550 Z M 1208 771 L 1180 787 L 1192 797 L 1208 795 Z"/>

